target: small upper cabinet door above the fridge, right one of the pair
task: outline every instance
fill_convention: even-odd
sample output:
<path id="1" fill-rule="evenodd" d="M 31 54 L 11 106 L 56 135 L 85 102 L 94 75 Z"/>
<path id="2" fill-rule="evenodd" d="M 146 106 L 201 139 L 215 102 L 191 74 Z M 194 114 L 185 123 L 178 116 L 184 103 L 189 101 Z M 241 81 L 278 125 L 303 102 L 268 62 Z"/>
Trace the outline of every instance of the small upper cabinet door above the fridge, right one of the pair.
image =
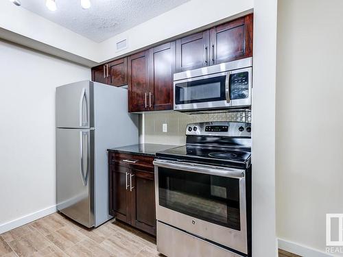
<path id="1" fill-rule="evenodd" d="M 121 58 L 108 63 L 108 84 L 123 86 L 128 84 L 128 58 Z"/>

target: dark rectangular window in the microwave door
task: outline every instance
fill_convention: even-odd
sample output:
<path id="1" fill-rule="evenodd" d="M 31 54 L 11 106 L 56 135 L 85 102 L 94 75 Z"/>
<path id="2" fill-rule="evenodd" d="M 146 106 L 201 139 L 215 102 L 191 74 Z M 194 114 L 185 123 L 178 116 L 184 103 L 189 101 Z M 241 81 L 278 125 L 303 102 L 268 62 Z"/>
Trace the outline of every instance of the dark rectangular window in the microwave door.
<path id="1" fill-rule="evenodd" d="M 225 78 L 219 76 L 175 84 L 176 104 L 225 100 Z"/>

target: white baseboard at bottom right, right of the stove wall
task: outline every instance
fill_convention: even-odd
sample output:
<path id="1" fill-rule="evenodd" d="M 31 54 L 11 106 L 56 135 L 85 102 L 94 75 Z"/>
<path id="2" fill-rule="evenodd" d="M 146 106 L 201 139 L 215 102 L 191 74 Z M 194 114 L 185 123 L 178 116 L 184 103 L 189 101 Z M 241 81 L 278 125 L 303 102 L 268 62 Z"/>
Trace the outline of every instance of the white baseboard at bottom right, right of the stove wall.
<path id="1" fill-rule="evenodd" d="M 298 254 L 304 257 L 331 257 L 331 254 L 321 252 L 317 249 L 309 248 L 305 245 L 299 245 L 298 243 L 290 242 L 282 238 L 278 238 L 279 249 L 285 250 L 292 254 Z"/>

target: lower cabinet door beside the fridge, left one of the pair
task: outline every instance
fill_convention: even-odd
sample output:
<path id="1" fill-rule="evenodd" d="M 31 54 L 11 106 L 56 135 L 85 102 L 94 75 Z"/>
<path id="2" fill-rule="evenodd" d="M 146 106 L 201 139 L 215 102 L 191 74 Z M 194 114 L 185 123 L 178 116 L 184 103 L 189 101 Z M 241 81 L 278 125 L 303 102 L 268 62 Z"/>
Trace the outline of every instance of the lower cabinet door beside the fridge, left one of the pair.
<path id="1" fill-rule="evenodd" d="M 129 179 L 130 169 L 119 166 L 118 164 L 110 164 L 110 215 L 128 223 L 132 219 L 130 212 Z"/>

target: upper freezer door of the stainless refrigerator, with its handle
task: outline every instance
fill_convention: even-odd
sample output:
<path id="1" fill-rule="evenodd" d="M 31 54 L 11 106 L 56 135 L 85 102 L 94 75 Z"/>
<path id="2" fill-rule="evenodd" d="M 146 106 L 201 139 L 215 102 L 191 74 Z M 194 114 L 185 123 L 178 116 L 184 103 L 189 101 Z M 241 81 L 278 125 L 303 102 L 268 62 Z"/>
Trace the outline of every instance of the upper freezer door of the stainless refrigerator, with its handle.
<path id="1" fill-rule="evenodd" d="M 93 82 L 56 88 L 56 127 L 93 127 Z"/>

